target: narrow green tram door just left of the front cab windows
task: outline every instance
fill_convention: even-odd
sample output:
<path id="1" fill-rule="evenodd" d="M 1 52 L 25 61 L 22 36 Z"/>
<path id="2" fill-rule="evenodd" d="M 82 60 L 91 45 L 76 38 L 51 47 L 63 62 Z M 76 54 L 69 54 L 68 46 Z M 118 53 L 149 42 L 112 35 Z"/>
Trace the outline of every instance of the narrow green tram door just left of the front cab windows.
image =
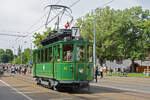
<path id="1" fill-rule="evenodd" d="M 57 46 L 54 46 L 53 47 L 53 77 L 55 79 L 57 79 L 57 61 L 60 59 L 59 58 L 59 47 L 58 45 Z"/>

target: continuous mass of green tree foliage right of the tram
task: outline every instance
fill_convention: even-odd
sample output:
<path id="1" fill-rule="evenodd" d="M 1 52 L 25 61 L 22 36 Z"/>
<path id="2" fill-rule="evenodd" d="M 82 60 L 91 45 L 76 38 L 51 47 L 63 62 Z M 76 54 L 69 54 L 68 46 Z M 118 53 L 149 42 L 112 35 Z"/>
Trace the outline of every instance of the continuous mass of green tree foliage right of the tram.
<path id="1" fill-rule="evenodd" d="M 96 19 L 96 52 L 99 59 L 144 59 L 150 48 L 150 13 L 141 7 L 115 10 L 97 8 L 77 20 L 81 35 L 93 40 L 93 19 Z M 90 35 L 89 32 L 91 33 Z"/>

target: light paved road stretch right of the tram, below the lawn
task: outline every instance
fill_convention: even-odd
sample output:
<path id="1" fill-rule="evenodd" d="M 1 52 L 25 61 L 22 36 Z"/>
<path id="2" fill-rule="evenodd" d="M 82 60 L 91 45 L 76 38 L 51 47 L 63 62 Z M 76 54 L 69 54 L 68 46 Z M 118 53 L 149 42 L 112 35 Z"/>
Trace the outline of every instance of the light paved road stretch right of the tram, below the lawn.
<path id="1" fill-rule="evenodd" d="M 105 77 L 91 85 L 150 94 L 150 78 Z"/>

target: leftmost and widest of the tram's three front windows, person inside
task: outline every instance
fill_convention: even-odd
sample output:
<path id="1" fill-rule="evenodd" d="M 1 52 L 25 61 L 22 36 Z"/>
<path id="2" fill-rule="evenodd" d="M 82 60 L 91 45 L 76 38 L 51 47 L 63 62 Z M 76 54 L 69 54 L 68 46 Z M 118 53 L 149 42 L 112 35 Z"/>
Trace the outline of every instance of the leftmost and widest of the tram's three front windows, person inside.
<path id="1" fill-rule="evenodd" d="M 73 44 L 63 44 L 63 61 L 73 61 Z"/>

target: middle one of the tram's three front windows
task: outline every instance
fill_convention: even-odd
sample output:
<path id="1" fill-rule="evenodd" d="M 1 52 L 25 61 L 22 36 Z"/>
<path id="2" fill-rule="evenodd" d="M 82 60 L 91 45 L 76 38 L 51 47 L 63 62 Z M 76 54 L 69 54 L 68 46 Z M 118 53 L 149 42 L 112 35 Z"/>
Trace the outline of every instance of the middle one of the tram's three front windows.
<path id="1" fill-rule="evenodd" d="M 77 46 L 77 61 L 85 60 L 85 48 L 84 46 Z"/>

